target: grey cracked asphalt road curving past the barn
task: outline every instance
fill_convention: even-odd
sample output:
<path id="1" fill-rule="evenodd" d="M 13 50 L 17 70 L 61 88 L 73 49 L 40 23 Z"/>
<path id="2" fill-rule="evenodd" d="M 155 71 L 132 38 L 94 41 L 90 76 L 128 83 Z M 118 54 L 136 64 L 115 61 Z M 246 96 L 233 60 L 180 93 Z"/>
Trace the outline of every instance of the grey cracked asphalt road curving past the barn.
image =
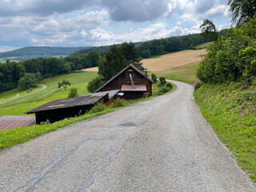
<path id="1" fill-rule="evenodd" d="M 256 191 L 182 82 L 0 154 L 2 191 Z"/>

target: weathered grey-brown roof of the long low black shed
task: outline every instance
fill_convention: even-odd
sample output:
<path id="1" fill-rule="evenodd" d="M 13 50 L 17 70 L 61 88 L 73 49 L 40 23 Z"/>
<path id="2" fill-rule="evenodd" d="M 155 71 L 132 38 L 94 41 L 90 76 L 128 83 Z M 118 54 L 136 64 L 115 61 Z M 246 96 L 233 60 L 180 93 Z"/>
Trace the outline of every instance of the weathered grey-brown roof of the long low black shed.
<path id="1" fill-rule="evenodd" d="M 47 102 L 42 106 L 38 106 L 33 110 L 26 111 L 26 114 L 34 114 L 35 112 L 45 111 L 45 110 L 56 110 L 63 109 L 74 106 L 89 106 L 96 104 L 100 99 L 107 97 L 113 98 L 119 90 L 104 91 L 96 94 L 84 94 L 77 98 L 64 98 L 59 100 L 54 100 L 52 102 Z"/>

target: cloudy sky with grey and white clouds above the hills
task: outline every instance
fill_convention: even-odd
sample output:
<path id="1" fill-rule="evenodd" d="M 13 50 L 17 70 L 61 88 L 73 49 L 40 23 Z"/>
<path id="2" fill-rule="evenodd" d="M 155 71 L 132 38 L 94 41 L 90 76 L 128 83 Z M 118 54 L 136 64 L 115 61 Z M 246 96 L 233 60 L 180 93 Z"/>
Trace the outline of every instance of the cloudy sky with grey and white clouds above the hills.
<path id="1" fill-rule="evenodd" d="M 23 46 L 103 46 L 230 27 L 228 0 L 0 0 L 0 52 Z"/>

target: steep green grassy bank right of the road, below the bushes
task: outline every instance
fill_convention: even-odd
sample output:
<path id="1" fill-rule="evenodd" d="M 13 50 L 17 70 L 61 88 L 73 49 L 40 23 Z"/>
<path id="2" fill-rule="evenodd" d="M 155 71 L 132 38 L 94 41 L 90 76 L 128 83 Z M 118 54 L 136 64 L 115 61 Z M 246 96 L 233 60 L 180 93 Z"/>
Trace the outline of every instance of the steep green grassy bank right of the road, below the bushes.
<path id="1" fill-rule="evenodd" d="M 256 82 L 204 84 L 194 98 L 218 138 L 256 182 Z"/>

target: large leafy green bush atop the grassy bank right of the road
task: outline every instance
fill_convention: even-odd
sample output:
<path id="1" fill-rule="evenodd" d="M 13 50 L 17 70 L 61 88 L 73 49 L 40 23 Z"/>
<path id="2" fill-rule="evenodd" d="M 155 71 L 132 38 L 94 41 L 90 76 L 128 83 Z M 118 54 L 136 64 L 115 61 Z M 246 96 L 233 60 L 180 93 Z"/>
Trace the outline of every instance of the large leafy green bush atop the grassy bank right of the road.
<path id="1" fill-rule="evenodd" d="M 236 29 L 227 30 L 208 48 L 197 76 L 201 82 L 248 80 L 256 76 L 256 18 Z"/>

